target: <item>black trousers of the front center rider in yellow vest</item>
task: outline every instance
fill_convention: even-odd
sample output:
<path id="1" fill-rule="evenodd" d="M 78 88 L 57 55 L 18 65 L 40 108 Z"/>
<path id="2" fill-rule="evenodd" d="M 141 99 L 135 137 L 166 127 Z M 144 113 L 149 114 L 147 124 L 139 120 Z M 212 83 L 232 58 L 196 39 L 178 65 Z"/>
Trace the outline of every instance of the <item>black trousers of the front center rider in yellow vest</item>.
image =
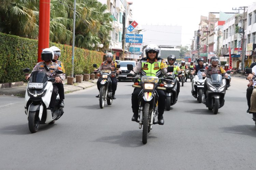
<path id="1" fill-rule="evenodd" d="M 139 113 L 139 99 L 138 95 L 141 91 L 141 88 L 134 88 L 133 93 L 131 94 L 131 108 L 133 113 Z M 158 94 L 158 115 L 162 115 L 165 111 L 166 104 L 166 95 L 163 90 L 156 89 Z"/>

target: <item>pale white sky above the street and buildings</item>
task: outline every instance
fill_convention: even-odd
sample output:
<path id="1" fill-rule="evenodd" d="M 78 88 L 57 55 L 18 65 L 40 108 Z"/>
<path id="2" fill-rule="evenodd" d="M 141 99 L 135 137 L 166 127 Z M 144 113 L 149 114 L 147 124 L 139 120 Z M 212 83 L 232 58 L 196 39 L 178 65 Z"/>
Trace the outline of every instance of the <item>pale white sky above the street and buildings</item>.
<path id="1" fill-rule="evenodd" d="M 250 6 L 253 0 L 131 0 L 133 20 L 140 25 L 182 26 L 181 44 L 189 46 L 194 31 L 199 29 L 200 16 L 209 12 L 239 12 L 232 8 Z M 243 10 L 240 10 L 242 13 Z"/>

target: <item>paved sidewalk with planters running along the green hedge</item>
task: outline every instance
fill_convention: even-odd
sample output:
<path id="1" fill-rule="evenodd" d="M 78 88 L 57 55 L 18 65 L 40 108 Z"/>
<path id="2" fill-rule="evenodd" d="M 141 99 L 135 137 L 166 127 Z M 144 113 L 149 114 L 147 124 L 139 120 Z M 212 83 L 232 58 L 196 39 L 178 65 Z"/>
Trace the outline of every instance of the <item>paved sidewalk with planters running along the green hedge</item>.
<path id="1" fill-rule="evenodd" d="M 75 81 L 75 78 L 74 78 Z M 77 90 L 83 90 L 85 88 L 97 85 L 98 79 L 82 81 L 81 83 L 74 83 L 73 85 L 67 84 L 67 79 L 64 80 L 64 92 L 70 93 Z M 11 88 L 1 88 L 0 95 L 8 95 L 8 96 L 25 96 L 27 83 L 24 83 L 22 86 L 11 87 Z"/>

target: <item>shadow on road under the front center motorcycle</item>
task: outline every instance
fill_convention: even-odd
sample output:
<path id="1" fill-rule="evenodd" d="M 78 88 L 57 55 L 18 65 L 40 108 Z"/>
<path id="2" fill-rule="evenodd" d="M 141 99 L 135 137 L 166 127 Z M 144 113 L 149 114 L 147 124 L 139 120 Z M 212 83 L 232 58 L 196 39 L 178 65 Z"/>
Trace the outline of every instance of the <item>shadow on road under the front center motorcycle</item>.
<path id="1" fill-rule="evenodd" d="M 151 138 L 156 138 L 152 136 L 151 133 L 148 134 L 147 139 L 150 140 Z M 135 131 L 125 131 L 121 135 L 114 135 L 114 136 L 105 136 L 96 139 L 94 142 L 106 142 L 120 145 L 121 147 L 141 147 L 144 146 L 142 143 L 142 131 L 135 130 Z"/>

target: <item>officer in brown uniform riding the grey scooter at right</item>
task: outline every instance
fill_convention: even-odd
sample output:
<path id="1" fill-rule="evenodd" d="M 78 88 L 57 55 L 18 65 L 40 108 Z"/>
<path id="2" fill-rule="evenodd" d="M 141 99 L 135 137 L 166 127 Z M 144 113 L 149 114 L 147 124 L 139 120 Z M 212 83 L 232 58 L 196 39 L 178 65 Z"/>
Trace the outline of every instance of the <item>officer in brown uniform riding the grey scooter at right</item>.
<path id="1" fill-rule="evenodd" d="M 222 74 L 222 76 L 224 76 L 225 78 L 228 78 L 228 74 L 221 66 L 218 66 L 218 63 L 219 63 L 218 57 L 212 56 L 211 66 L 205 67 L 205 71 L 202 72 L 202 76 L 206 76 L 208 74 Z M 207 85 L 204 84 L 203 93 L 204 93 L 205 99 L 207 98 L 206 91 L 207 91 Z"/>

